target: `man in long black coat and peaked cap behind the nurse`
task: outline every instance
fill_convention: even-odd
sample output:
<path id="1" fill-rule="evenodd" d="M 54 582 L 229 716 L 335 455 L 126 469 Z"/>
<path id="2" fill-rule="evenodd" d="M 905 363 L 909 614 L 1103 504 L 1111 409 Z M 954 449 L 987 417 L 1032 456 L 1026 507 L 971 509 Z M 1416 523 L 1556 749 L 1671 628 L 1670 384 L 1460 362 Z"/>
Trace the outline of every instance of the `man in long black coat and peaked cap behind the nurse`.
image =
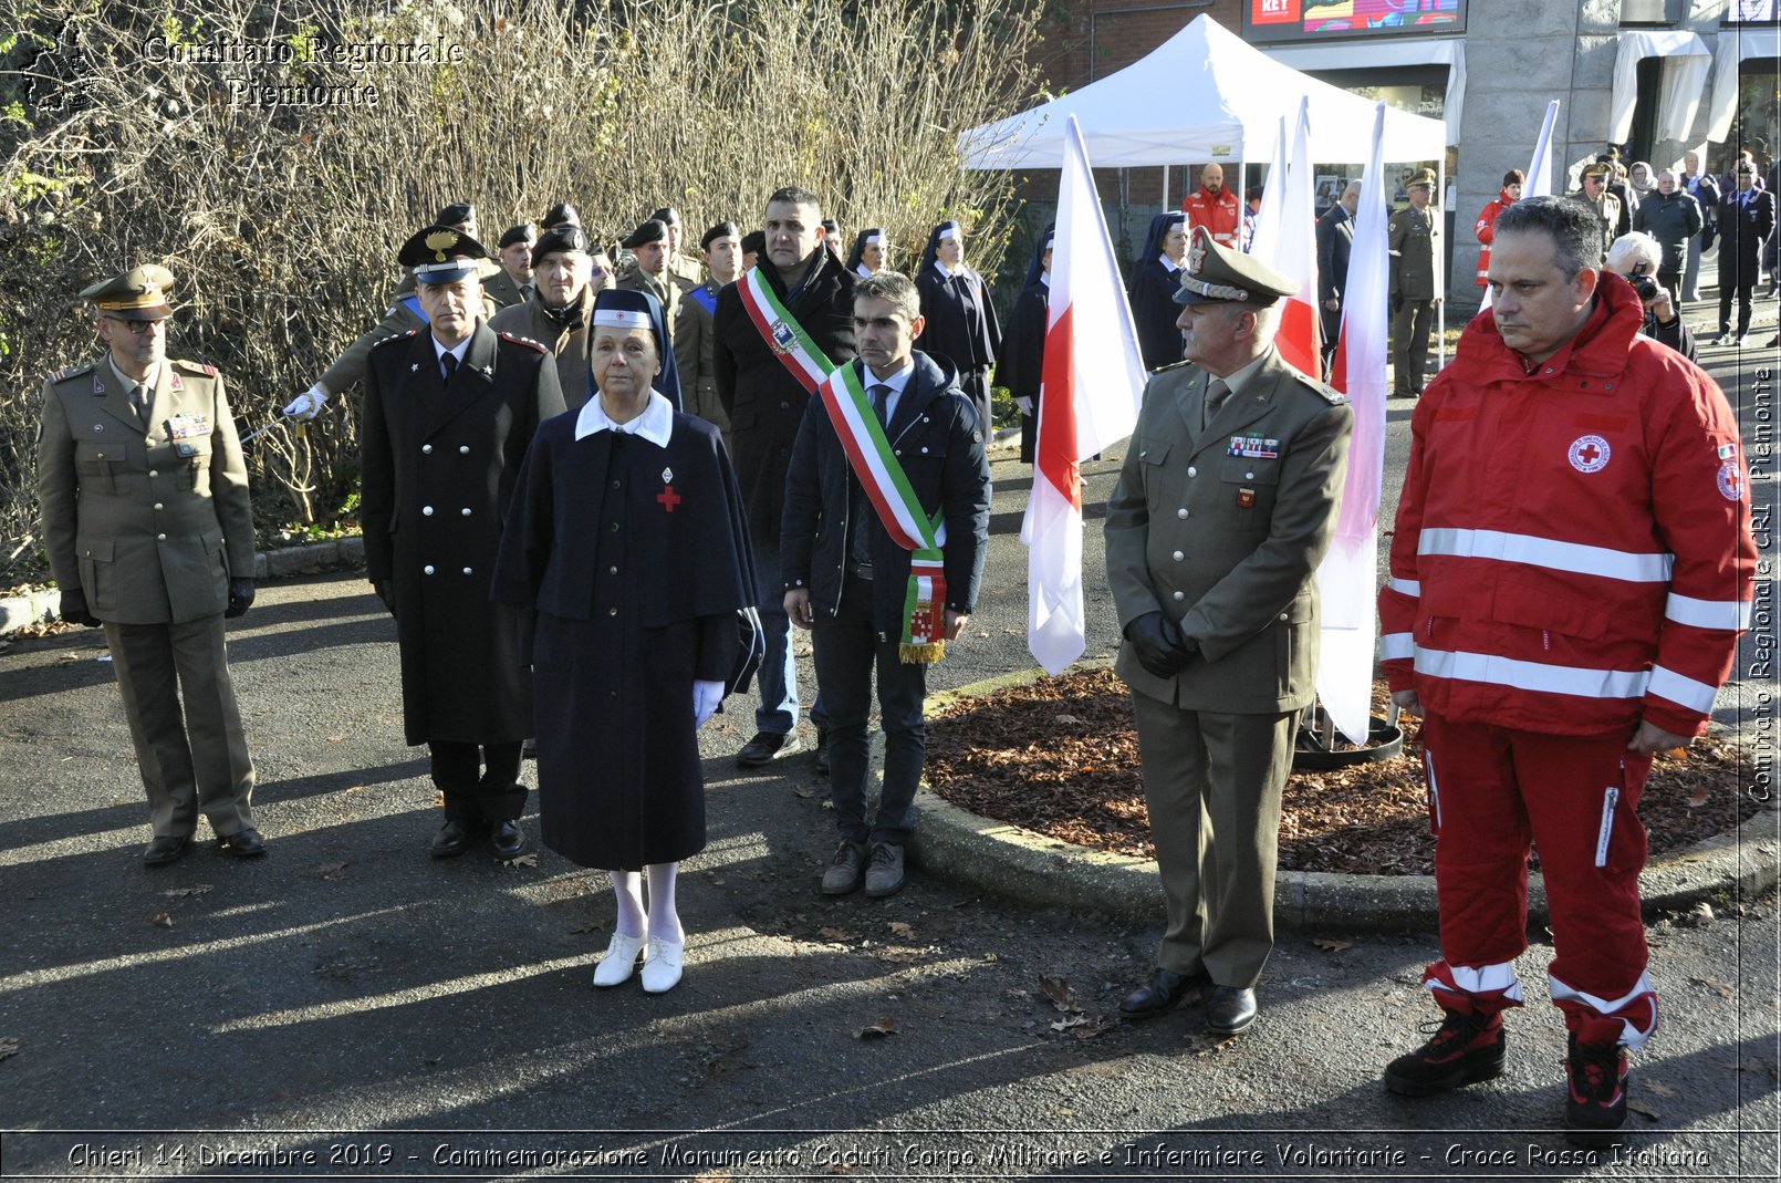
<path id="1" fill-rule="evenodd" d="M 427 745 L 445 798 L 436 859 L 484 832 L 504 859 L 525 848 L 531 686 L 516 615 L 488 590 L 520 461 L 563 413 L 550 351 L 481 321 L 486 257 L 451 226 L 404 242 L 427 330 L 379 342 L 365 371 L 365 563 L 395 615 L 408 743 Z"/>

